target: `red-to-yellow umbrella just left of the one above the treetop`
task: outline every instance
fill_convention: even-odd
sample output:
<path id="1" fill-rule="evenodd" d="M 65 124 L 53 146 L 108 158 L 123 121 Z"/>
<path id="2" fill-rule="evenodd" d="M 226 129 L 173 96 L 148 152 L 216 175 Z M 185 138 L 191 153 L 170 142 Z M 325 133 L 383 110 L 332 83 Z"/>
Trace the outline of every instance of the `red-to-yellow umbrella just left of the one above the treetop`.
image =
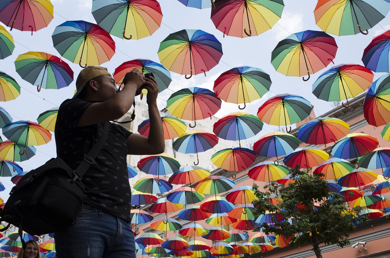
<path id="1" fill-rule="evenodd" d="M 289 168 L 283 165 L 275 165 L 272 161 L 264 161 L 256 164 L 248 171 L 248 177 L 256 181 L 270 182 L 280 180 L 290 173 Z"/>

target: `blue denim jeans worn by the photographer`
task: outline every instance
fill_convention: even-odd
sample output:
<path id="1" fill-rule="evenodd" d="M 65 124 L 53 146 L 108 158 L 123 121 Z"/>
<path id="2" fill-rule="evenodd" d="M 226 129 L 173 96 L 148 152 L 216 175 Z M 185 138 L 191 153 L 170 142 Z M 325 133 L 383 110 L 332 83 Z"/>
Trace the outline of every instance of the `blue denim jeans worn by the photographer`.
<path id="1" fill-rule="evenodd" d="M 76 224 L 54 235 L 57 258 L 135 258 L 128 221 L 82 205 Z"/>

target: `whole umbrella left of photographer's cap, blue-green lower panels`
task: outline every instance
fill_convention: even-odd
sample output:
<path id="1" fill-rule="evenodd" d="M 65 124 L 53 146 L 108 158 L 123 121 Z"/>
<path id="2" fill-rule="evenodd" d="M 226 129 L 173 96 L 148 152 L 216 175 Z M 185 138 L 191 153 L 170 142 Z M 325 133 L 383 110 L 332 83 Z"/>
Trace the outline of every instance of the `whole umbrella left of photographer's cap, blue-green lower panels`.
<path id="1" fill-rule="evenodd" d="M 37 85 L 38 92 L 44 89 L 68 87 L 73 81 L 71 67 L 60 58 L 45 52 L 27 52 L 15 60 L 16 72 L 32 85 Z"/>

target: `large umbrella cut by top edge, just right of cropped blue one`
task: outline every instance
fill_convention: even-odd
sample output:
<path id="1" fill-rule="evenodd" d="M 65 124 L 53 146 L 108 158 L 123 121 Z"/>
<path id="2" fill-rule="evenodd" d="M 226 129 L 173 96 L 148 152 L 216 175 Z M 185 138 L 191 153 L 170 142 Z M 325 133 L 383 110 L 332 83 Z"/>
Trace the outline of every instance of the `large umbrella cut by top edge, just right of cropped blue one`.
<path id="1" fill-rule="evenodd" d="M 283 8 L 283 0 L 215 0 L 211 20 L 223 36 L 243 38 L 271 29 L 282 17 Z"/>

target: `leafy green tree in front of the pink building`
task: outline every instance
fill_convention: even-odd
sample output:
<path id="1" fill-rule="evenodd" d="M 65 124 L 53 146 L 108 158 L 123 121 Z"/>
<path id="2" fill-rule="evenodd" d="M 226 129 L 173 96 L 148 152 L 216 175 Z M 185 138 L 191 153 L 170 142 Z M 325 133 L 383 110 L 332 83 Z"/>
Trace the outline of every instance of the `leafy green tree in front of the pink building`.
<path id="1" fill-rule="evenodd" d="M 264 186 L 265 192 L 259 191 L 254 184 L 258 200 L 252 202 L 255 215 L 269 211 L 280 221 L 274 226 L 263 223 L 264 233 L 284 235 L 299 246 L 310 243 L 317 258 L 322 258 L 320 244 L 348 245 L 349 232 L 355 230 L 356 224 L 367 220 L 366 216 L 356 217 L 362 208 L 347 208 L 343 196 L 331 193 L 327 181 L 321 176 L 323 174 L 310 175 L 297 166 L 291 170 L 290 176 L 295 182 L 278 189 L 282 201 L 275 205 L 269 201 L 277 187 L 274 183 Z"/>

